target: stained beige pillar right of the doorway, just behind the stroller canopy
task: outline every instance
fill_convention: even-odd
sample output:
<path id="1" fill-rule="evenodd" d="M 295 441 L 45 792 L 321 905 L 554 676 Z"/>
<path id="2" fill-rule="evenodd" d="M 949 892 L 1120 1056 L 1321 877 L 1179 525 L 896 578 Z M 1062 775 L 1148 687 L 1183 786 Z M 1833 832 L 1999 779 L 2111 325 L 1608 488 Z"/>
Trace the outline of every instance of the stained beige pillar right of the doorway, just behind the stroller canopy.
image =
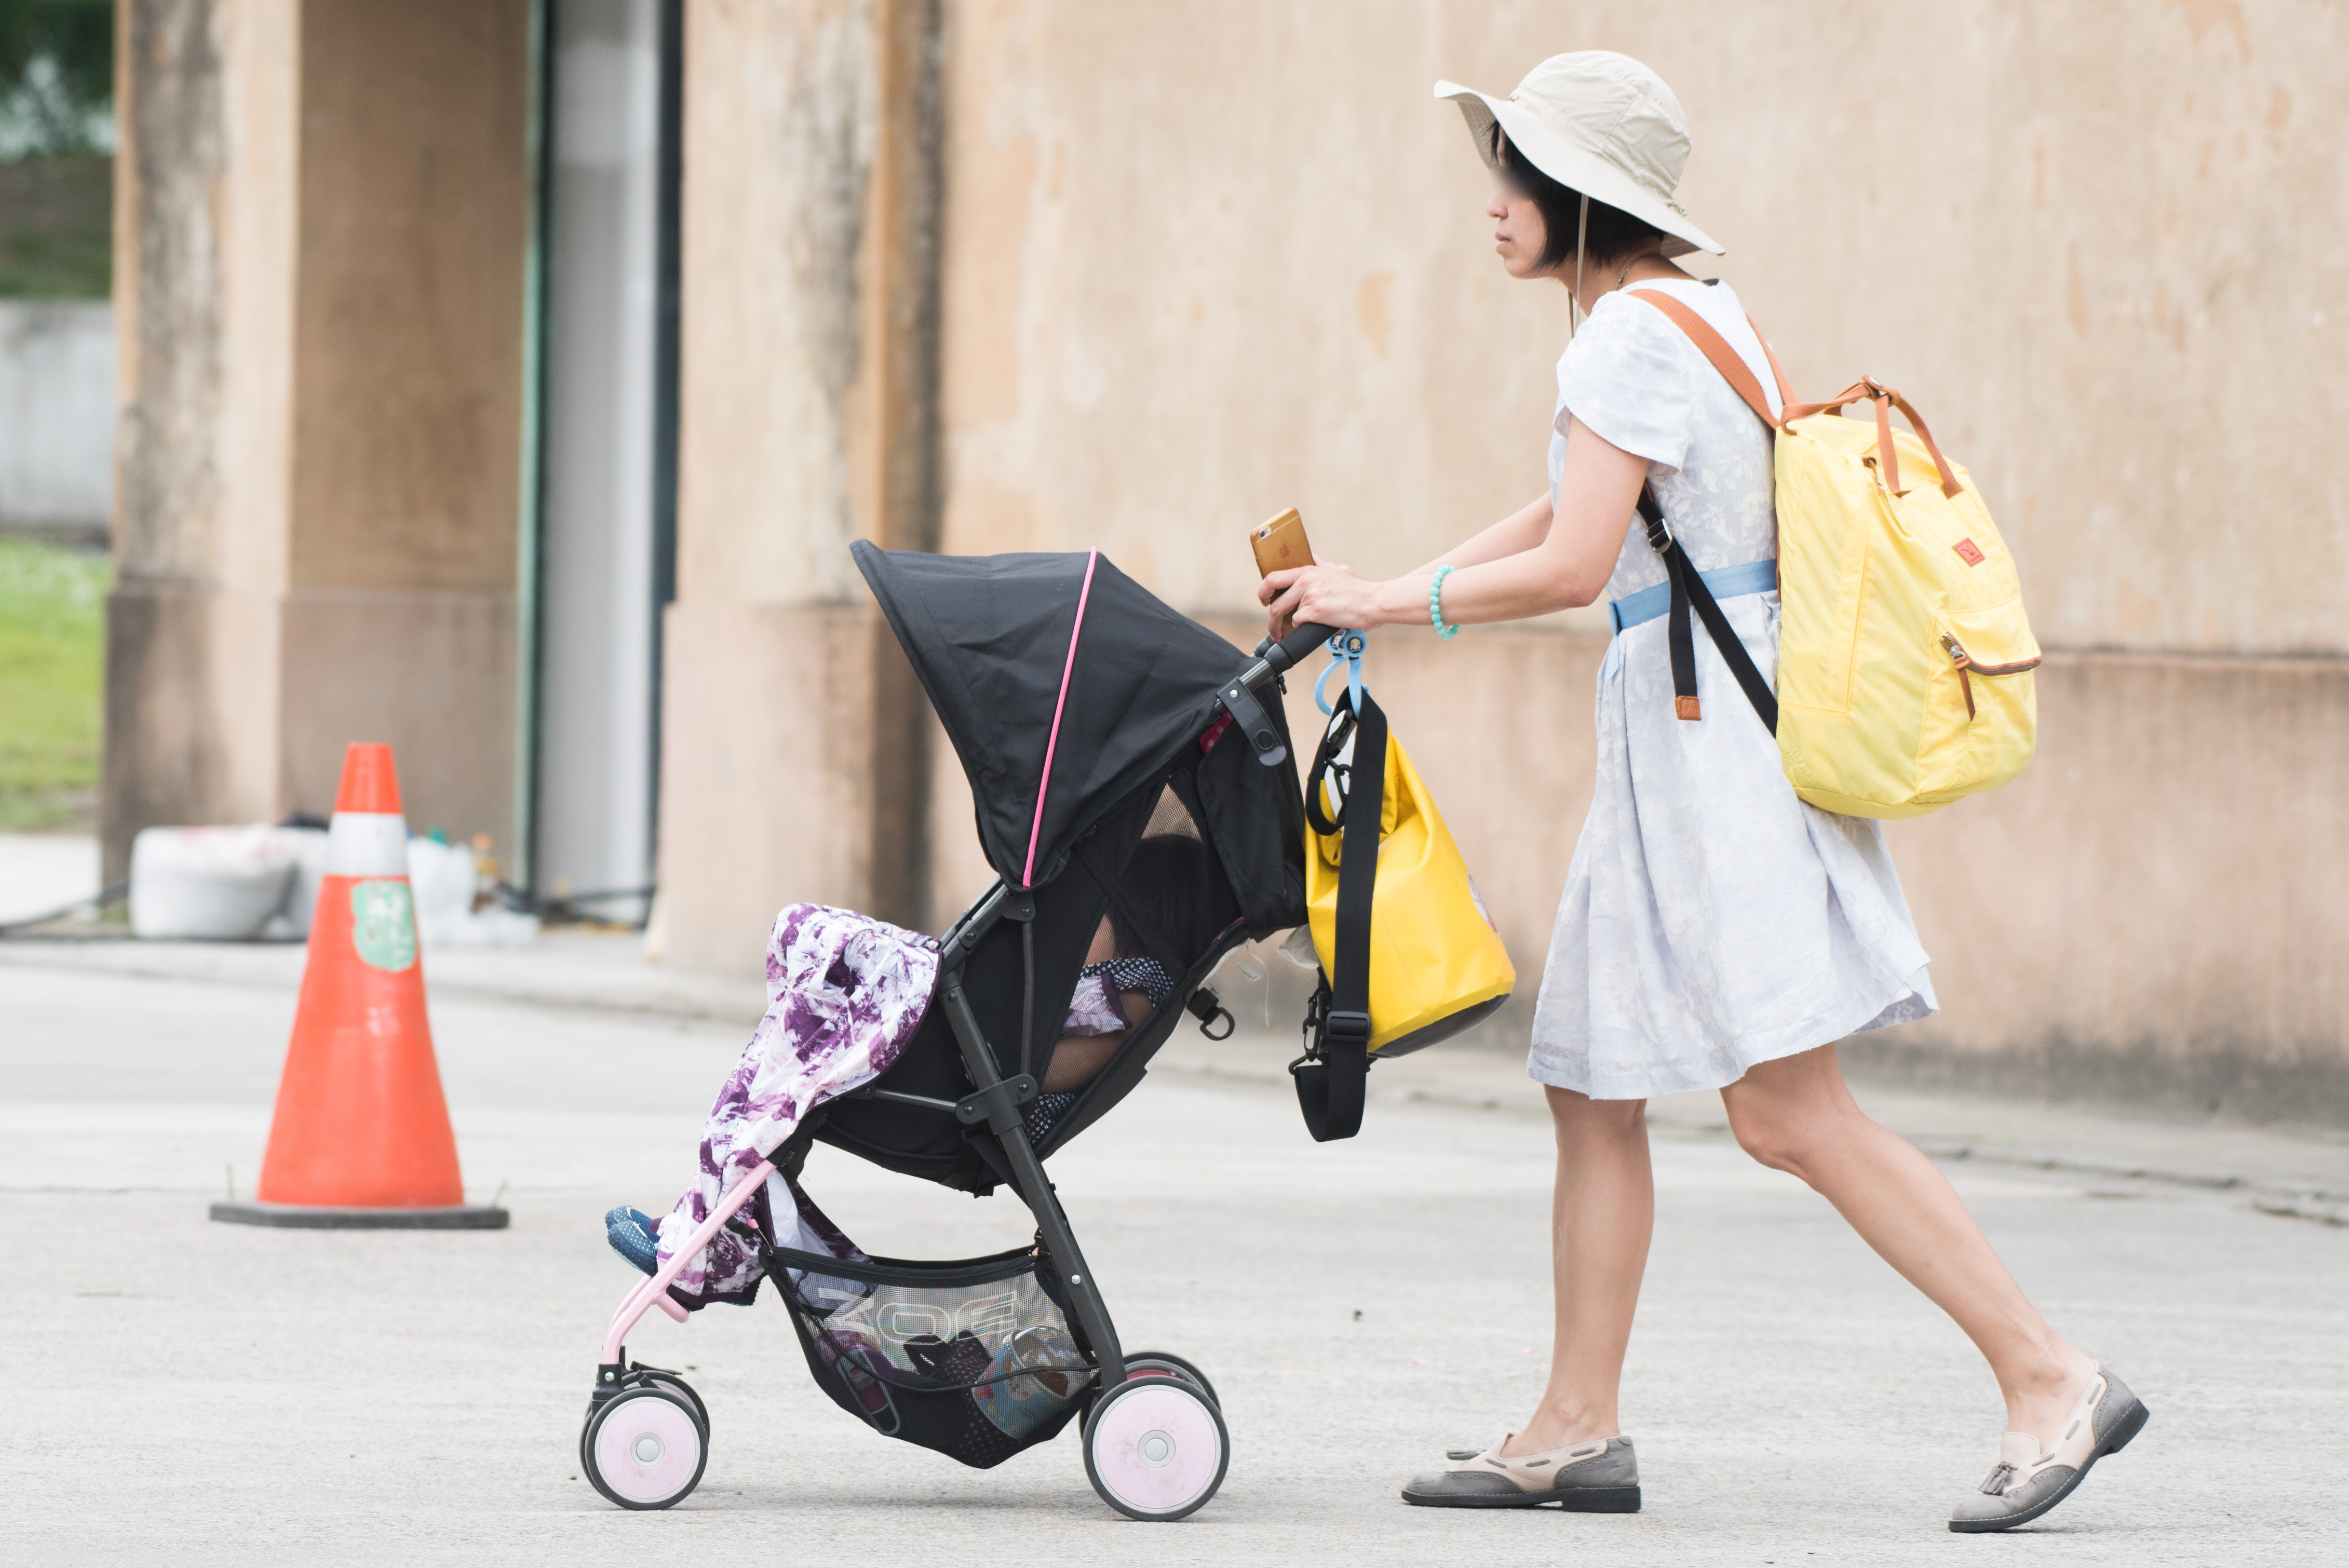
<path id="1" fill-rule="evenodd" d="M 655 944 L 928 922 L 928 709 L 848 559 L 935 542 L 937 7 L 686 12 L 677 603 Z"/>

